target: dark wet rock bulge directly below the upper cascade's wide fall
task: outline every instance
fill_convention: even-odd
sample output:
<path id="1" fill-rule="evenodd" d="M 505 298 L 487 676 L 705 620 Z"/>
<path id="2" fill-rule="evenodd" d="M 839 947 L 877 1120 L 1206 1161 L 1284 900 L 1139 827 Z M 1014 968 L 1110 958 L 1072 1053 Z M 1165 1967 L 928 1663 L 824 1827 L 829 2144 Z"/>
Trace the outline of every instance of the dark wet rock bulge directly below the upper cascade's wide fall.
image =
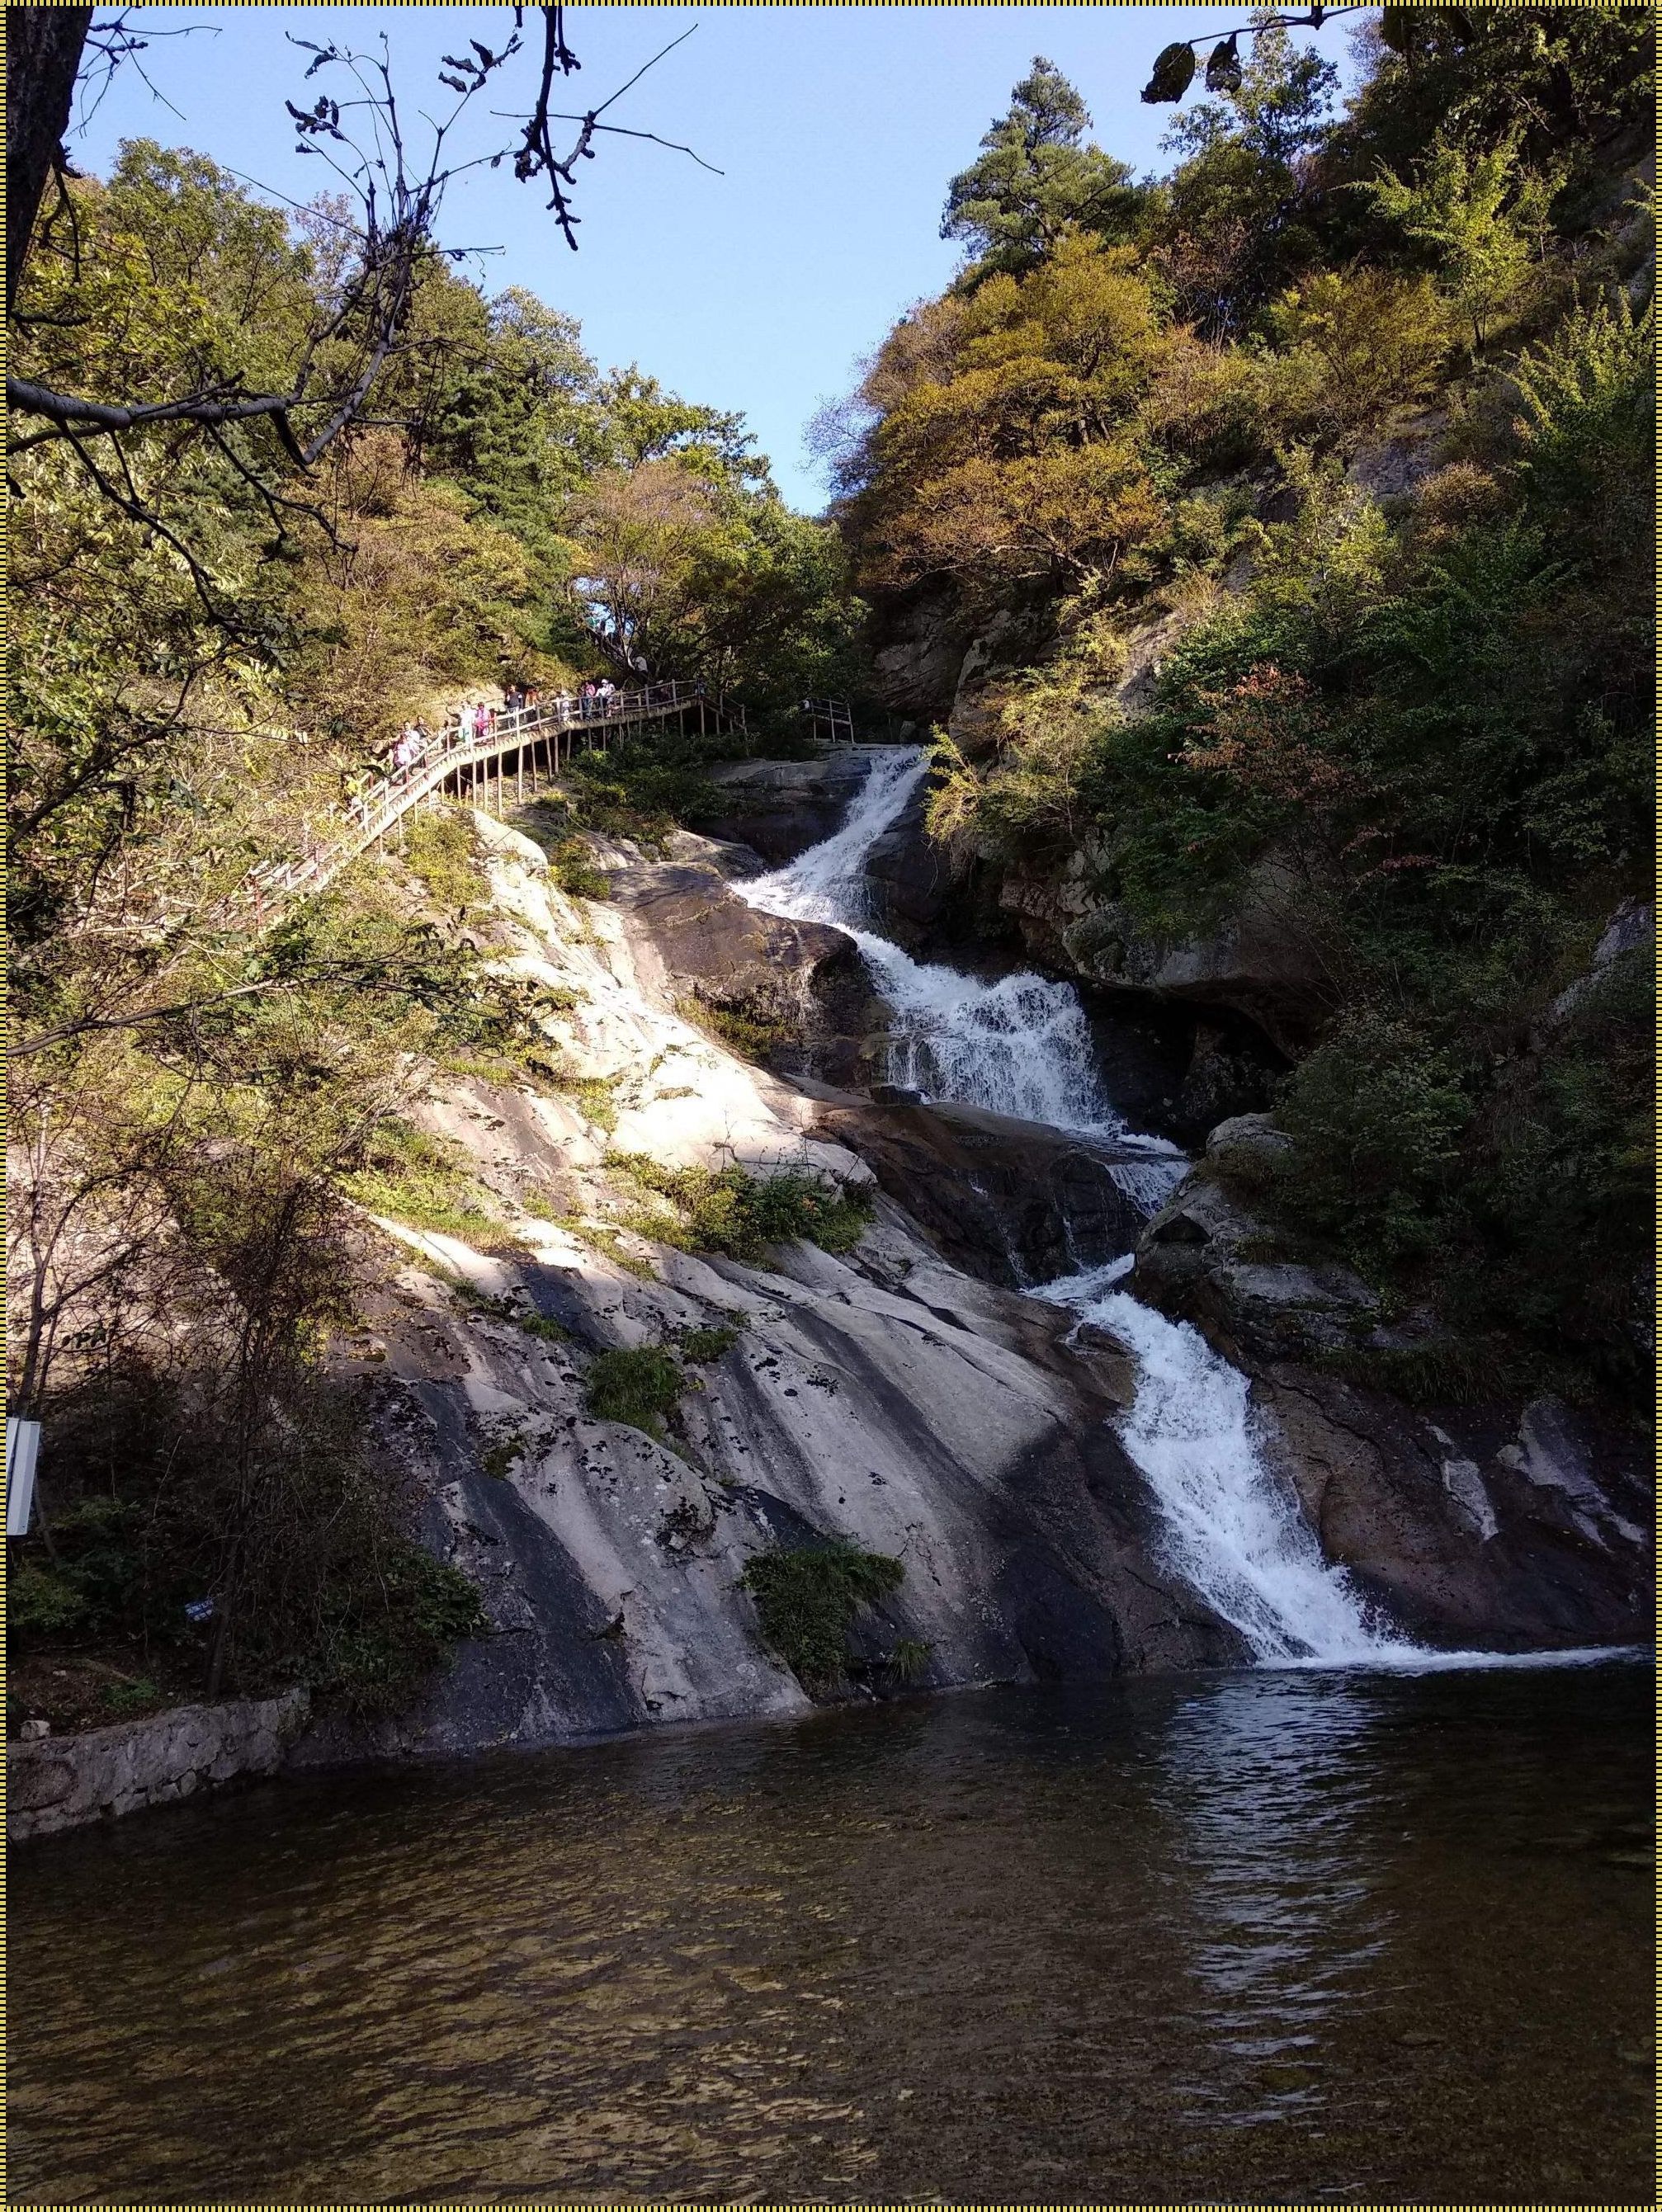
<path id="1" fill-rule="evenodd" d="M 1038 1121 L 872 1102 L 821 1106 L 814 1128 L 859 1152 L 949 1261 L 994 1283 L 1045 1283 L 1118 1259 L 1144 1221 L 1113 1168 L 1146 1155 Z"/>

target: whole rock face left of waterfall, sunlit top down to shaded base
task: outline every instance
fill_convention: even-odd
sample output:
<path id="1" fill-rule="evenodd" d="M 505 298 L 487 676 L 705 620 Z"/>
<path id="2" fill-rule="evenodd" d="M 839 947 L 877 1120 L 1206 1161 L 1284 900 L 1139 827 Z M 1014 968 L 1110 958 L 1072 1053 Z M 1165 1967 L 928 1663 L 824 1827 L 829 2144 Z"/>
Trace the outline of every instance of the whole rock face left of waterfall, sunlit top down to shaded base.
<path id="1" fill-rule="evenodd" d="M 1113 1345 L 1069 1340 L 1067 1316 L 956 1270 L 887 1197 L 845 1259 L 786 1245 L 739 1265 L 626 1225 L 609 1150 L 868 1183 L 845 1137 L 850 1115 L 879 1108 L 839 1119 L 675 1011 L 666 953 L 708 951 L 717 925 L 695 907 L 713 902 L 713 872 L 688 883 L 684 860 L 642 867 L 615 907 L 578 909 L 524 838 L 482 834 L 505 958 L 573 1000 L 562 1042 L 611 1082 L 615 1128 L 562 1097 L 480 1082 L 449 1082 L 427 1104 L 518 1248 L 376 1223 L 350 1365 L 423 1500 L 427 1542 L 480 1584 L 491 1632 L 372 1743 L 323 1725 L 299 1756 L 799 1710 L 808 1694 L 766 1650 L 739 1577 L 761 1548 L 828 1537 L 905 1564 L 861 1630 L 874 1688 L 898 1683 L 898 1644 L 927 1646 L 916 1679 L 938 1688 L 1237 1657 L 1233 1630 L 1155 1564 L 1149 1504 L 1111 1427 L 1131 1389 Z M 764 938 L 770 927 L 797 929 L 757 920 Z M 768 942 L 739 949 L 768 967 Z M 814 933 L 790 951 L 794 978 L 812 980 L 825 953 Z M 974 1177 L 996 1148 L 998 1133 L 974 1128 L 918 1144 L 907 1194 L 943 1208 L 927 1164 L 958 1152 Z M 903 1146 L 872 1150 L 887 1152 L 879 1179 L 903 1190 Z M 547 1219 L 549 1194 L 569 1225 Z M 733 1340 L 684 1363 L 662 1433 L 589 1411 L 595 1356 L 695 1329 Z"/>

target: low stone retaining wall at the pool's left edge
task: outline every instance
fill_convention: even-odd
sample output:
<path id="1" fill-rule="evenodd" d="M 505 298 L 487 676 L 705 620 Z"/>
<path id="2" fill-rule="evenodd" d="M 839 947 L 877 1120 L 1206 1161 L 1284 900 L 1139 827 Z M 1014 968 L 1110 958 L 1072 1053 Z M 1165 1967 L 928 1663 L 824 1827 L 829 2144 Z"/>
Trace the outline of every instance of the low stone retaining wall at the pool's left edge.
<path id="1" fill-rule="evenodd" d="M 305 1712 L 305 1690 L 290 1690 L 224 1705 L 175 1705 L 84 1736 L 9 1743 L 7 1834 L 18 1843 L 166 1805 L 237 1774 L 274 1774 Z"/>

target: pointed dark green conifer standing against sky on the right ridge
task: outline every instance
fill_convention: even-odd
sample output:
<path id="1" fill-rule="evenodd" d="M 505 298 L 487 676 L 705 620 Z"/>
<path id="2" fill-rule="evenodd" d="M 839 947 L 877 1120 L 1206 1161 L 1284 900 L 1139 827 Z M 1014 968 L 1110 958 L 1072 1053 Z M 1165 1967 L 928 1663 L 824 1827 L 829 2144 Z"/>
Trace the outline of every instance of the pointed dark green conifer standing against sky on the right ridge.
<path id="1" fill-rule="evenodd" d="M 1087 146 L 1091 115 L 1062 71 L 1033 58 L 1009 115 L 983 137 L 980 159 L 947 188 L 943 239 L 963 239 L 976 276 L 1033 268 L 1069 226 L 1104 239 L 1135 228 L 1140 195 L 1124 161 Z"/>

